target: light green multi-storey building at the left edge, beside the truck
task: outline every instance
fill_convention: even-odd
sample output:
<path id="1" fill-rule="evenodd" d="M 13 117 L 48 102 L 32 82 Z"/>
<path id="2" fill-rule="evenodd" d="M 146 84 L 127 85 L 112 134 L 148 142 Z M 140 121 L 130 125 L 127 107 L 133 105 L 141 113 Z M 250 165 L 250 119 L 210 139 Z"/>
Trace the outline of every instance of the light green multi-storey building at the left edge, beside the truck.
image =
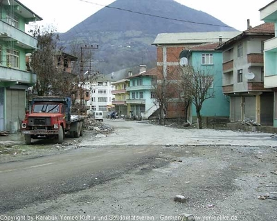
<path id="1" fill-rule="evenodd" d="M 37 39 L 25 24 L 42 18 L 17 0 L 0 1 L 0 130 L 10 130 L 26 111 L 26 90 L 37 75 L 26 66 L 26 55 L 37 48 Z M 18 126 L 18 124 L 16 124 Z"/>

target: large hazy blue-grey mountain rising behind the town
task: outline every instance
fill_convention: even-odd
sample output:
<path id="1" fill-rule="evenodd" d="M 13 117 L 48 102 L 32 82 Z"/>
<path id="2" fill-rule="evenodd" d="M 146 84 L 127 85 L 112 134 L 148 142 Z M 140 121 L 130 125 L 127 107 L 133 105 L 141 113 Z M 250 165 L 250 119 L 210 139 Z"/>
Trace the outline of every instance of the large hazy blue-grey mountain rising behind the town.
<path id="1" fill-rule="evenodd" d="M 68 52 L 71 48 L 98 45 L 89 65 L 108 74 L 139 64 L 155 66 L 156 47 L 151 44 L 159 33 L 229 30 L 235 29 L 174 0 L 117 0 L 60 33 L 60 39 Z"/>

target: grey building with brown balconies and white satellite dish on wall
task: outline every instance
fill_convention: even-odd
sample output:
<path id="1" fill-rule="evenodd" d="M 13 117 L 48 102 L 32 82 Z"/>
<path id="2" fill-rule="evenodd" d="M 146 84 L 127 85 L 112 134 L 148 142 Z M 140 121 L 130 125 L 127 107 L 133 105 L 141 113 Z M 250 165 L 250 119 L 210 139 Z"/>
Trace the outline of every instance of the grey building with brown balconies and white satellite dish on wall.
<path id="1" fill-rule="evenodd" d="M 248 22 L 249 23 L 249 22 Z M 274 95 L 264 87 L 264 42 L 274 37 L 274 23 L 264 23 L 222 43 L 224 95 L 230 97 L 230 119 L 252 119 L 273 125 Z M 275 61 L 274 61 L 275 65 Z"/>

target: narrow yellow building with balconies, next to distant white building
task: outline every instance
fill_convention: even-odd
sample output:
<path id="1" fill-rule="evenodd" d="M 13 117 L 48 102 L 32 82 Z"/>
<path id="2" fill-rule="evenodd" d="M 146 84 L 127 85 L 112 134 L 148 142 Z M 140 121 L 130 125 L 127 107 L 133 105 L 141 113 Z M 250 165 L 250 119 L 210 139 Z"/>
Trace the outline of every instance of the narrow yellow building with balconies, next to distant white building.
<path id="1" fill-rule="evenodd" d="M 131 75 L 131 72 L 129 72 L 129 75 Z M 126 103 L 126 100 L 129 99 L 129 93 L 126 90 L 129 86 L 129 79 L 121 79 L 111 84 L 114 85 L 114 90 L 111 90 L 111 93 L 115 96 L 112 105 L 118 115 L 124 115 L 126 117 L 129 115 Z"/>

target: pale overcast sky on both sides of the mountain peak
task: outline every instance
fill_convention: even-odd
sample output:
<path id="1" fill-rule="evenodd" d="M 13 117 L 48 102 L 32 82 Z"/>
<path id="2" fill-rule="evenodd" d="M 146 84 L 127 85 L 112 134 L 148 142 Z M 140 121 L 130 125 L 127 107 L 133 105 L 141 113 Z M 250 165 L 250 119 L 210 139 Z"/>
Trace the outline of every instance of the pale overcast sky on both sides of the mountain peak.
<path id="1" fill-rule="evenodd" d="M 66 32 L 87 17 L 107 6 L 114 0 L 19 0 L 30 10 L 42 17 L 39 26 L 54 26 L 57 32 Z M 131 1 L 131 0 L 130 0 Z M 132 0 L 139 1 L 139 0 Z M 202 10 L 227 25 L 243 31 L 247 19 L 251 26 L 260 23 L 260 8 L 273 0 L 175 0 L 185 6 Z M 174 13 L 172 13 L 174 18 Z"/>

